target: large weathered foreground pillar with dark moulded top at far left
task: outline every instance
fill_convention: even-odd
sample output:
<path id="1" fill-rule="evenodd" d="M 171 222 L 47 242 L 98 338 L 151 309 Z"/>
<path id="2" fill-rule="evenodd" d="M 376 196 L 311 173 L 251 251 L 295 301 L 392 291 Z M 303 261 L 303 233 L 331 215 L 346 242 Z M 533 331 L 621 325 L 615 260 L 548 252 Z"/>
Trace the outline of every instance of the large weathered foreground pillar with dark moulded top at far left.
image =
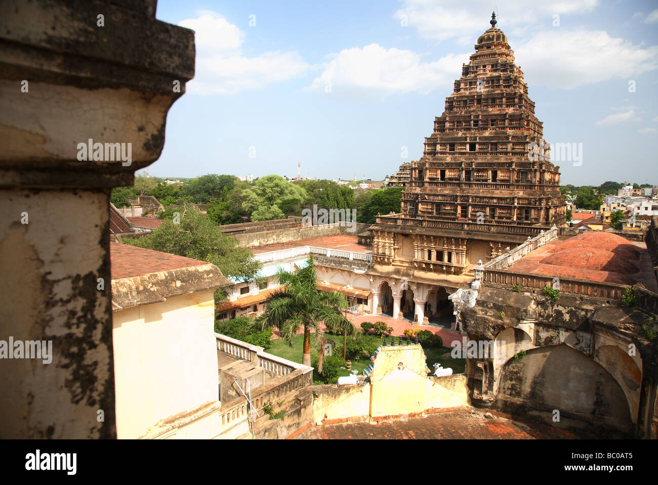
<path id="1" fill-rule="evenodd" d="M 110 192 L 160 156 L 194 74 L 193 32 L 155 7 L 0 4 L 0 340 L 51 346 L 0 360 L 3 438 L 116 438 Z"/>

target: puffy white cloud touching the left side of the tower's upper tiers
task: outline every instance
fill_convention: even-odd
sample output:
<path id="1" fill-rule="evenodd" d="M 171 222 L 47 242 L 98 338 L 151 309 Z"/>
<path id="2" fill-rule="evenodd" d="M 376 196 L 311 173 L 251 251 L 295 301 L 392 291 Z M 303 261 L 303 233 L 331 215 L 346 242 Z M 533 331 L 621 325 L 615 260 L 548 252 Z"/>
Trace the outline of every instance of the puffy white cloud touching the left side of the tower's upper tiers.
<path id="1" fill-rule="evenodd" d="M 376 43 L 343 49 L 324 65 L 310 91 L 383 100 L 395 93 L 428 94 L 450 86 L 461 74 L 468 54 L 449 54 L 438 61 L 422 62 L 418 53 L 386 49 Z"/>

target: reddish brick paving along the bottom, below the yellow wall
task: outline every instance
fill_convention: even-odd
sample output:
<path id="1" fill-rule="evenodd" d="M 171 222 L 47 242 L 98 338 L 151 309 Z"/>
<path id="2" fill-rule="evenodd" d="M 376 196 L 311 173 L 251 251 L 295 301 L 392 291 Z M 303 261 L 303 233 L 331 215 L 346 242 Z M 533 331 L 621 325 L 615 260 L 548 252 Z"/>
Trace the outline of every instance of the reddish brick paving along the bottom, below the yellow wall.
<path id="1" fill-rule="evenodd" d="M 438 439 L 520 439 L 576 438 L 560 430 L 541 424 L 524 424 L 495 413 L 493 419 L 484 417 L 485 411 L 464 407 L 455 411 L 430 414 L 426 418 L 410 418 L 370 424 L 350 422 L 314 426 L 295 437 L 295 440 L 438 440 Z"/>

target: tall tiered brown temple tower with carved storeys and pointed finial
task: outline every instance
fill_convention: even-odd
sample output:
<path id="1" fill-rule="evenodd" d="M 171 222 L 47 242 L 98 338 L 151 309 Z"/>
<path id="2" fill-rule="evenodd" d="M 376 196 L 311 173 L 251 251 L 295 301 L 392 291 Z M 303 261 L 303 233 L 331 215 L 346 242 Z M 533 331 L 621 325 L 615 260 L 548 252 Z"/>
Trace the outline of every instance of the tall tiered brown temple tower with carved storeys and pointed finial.
<path id="1" fill-rule="evenodd" d="M 528 85 L 495 14 L 490 23 L 423 156 L 411 162 L 401 214 L 377 217 L 370 228 L 375 271 L 463 275 L 566 221 L 559 167 L 544 149 Z"/>

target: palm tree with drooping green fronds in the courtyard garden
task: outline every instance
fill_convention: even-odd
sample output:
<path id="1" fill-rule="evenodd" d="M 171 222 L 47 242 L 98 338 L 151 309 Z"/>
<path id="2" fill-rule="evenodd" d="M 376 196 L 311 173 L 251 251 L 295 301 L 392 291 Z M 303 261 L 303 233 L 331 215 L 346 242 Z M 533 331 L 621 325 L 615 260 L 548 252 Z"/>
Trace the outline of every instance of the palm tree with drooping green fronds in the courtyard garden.
<path id="1" fill-rule="evenodd" d="M 301 363 L 307 366 L 311 366 L 311 330 L 313 330 L 318 345 L 318 372 L 322 372 L 324 337 L 320 324 L 324 322 L 326 326 L 340 329 L 352 336 L 360 331 L 343 314 L 349 306 L 347 299 L 337 291 L 318 290 L 313 255 L 307 260 L 307 266 L 296 273 L 280 269 L 278 279 L 282 289 L 268 297 L 265 302 L 265 312 L 257 317 L 257 324 L 261 329 L 277 328 L 291 346 L 293 337 L 303 326 L 304 345 Z"/>

